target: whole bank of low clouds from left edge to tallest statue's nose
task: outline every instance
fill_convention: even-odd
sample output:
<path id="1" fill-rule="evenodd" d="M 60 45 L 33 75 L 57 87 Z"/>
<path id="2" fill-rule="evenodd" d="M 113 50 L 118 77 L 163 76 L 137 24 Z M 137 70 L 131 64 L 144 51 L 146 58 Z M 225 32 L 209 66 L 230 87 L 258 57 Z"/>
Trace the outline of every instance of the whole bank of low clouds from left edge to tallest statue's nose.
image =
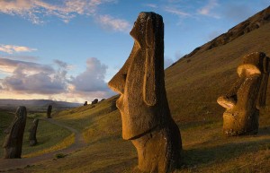
<path id="1" fill-rule="evenodd" d="M 70 65 L 54 60 L 53 65 L 19 61 L 0 57 L 0 74 L 7 74 L 0 79 L 2 91 L 16 94 L 40 94 L 62 99 L 106 98 L 112 91 L 104 82 L 107 66 L 97 58 L 86 60 L 86 69 L 76 76 L 68 76 Z"/>

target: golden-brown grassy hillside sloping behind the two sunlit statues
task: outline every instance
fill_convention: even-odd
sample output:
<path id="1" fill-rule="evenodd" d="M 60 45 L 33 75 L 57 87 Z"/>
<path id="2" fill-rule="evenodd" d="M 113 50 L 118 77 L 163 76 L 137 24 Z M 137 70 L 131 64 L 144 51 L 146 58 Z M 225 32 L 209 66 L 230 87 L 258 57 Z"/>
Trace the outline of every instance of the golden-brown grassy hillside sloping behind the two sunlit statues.
<path id="1" fill-rule="evenodd" d="M 254 51 L 270 56 L 269 30 L 270 23 L 264 23 L 226 44 L 185 56 L 166 69 L 167 99 L 181 130 L 184 148 L 184 166 L 176 172 L 270 170 L 270 97 L 266 108 L 260 111 L 259 133 L 230 138 L 222 135 L 225 109 L 216 102 L 238 78 L 236 69 L 242 56 Z M 129 141 L 121 139 L 121 114 L 115 108 L 116 99 L 114 96 L 94 106 L 58 112 L 53 118 L 78 129 L 84 135 L 86 147 L 63 159 L 31 165 L 22 172 L 137 173 L 136 150 Z"/>

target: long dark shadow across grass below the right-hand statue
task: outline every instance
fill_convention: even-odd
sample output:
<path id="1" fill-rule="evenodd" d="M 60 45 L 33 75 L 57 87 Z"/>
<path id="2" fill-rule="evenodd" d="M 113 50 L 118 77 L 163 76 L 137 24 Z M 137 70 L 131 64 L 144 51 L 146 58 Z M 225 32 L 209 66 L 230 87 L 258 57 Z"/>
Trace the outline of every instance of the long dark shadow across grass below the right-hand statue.
<path id="1" fill-rule="evenodd" d="M 223 137 L 220 141 L 220 144 L 214 145 L 215 142 L 211 141 L 197 144 L 202 147 L 194 146 L 193 149 L 184 150 L 182 168 L 196 168 L 213 162 L 231 160 L 248 152 L 268 150 L 270 126 L 260 128 L 256 135 Z"/>

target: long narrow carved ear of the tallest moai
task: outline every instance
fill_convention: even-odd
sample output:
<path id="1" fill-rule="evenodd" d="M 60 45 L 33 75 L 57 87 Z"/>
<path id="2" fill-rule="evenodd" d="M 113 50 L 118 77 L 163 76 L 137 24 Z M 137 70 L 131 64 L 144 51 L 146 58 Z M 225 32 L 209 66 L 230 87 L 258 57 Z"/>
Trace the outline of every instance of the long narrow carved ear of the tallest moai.
<path id="1" fill-rule="evenodd" d="M 146 24 L 146 59 L 143 80 L 143 99 L 148 106 L 157 103 L 156 91 L 156 61 L 155 61 L 155 33 L 153 21 L 148 18 Z"/>

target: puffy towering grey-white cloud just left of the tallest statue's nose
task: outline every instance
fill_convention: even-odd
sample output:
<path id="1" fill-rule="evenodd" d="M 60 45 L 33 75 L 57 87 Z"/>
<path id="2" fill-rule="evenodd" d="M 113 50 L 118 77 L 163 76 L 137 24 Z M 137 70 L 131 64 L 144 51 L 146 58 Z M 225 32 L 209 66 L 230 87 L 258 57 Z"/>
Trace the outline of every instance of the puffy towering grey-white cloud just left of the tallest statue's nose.
<path id="1" fill-rule="evenodd" d="M 78 92 L 109 91 L 107 83 L 104 82 L 107 68 L 97 58 L 88 58 L 85 72 L 71 80 L 74 90 Z"/>

